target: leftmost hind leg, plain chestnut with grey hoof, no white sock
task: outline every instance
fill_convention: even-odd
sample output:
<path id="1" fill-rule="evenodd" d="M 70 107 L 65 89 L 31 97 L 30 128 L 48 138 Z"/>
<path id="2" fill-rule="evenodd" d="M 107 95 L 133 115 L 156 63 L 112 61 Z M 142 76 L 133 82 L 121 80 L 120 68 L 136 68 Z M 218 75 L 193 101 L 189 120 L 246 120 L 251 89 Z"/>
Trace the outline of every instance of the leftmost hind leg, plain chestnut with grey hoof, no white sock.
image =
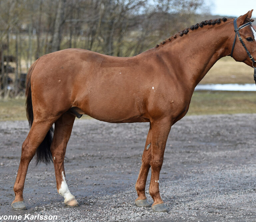
<path id="1" fill-rule="evenodd" d="M 41 144 L 47 132 L 51 128 L 53 123 L 50 121 L 51 120 L 34 121 L 27 138 L 22 144 L 20 165 L 13 188 L 15 193 L 15 199 L 12 202 L 12 207 L 15 210 L 26 209 L 26 206 L 23 202 L 23 189 L 28 170 L 28 165 L 33 156 L 35 155 L 37 147 Z"/>

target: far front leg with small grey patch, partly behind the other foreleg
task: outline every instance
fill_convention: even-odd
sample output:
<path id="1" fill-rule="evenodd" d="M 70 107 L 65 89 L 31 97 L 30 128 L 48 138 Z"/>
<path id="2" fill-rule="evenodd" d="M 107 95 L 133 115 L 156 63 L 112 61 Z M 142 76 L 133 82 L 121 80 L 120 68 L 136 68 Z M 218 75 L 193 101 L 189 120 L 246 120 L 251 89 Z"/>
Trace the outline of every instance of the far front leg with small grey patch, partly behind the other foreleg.
<path id="1" fill-rule="evenodd" d="M 146 139 L 146 144 L 144 148 L 144 152 L 142 155 L 142 164 L 140 167 L 139 176 L 135 185 L 135 189 L 137 190 L 138 198 L 135 200 L 135 204 L 139 207 L 150 207 L 151 205 L 147 201 L 147 197 L 145 195 L 145 187 L 147 182 L 148 171 L 150 168 L 150 158 L 151 158 L 151 125 L 148 131 L 148 136 Z"/>

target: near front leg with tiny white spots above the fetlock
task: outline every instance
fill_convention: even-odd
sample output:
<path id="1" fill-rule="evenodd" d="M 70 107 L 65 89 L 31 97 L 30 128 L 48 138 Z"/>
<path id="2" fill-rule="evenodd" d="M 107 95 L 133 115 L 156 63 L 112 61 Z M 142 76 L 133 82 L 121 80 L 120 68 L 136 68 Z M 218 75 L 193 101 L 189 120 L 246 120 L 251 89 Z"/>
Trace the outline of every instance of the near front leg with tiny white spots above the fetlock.
<path id="1" fill-rule="evenodd" d="M 151 122 L 152 143 L 151 143 L 151 180 L 149 193 L 154 200 L 152 209 L 156 212 L 167 212 L 159 193 L 159 174 L 164 159 L 166 141 L 171 129 L 172 121 L 168 118 Z"/>

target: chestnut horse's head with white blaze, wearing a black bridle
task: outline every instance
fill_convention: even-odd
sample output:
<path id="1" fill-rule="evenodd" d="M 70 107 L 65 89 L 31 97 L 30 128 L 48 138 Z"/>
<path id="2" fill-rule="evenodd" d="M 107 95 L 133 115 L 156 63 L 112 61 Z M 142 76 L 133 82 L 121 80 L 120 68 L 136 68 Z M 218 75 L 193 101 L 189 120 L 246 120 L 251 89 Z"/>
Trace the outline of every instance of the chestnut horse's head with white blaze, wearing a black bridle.
<path id="1" fill-rule="evenodd" d="M 256 63 L 254 62 L 254 60 L 256 60 L 256 31 L 250 24 L 250 22 L 254 21 L 251 19 L 252 11 L 253 10 L 241 15 L 234 21 L 234 29 L 237 31 L 234 42 L 231 40 L 233 42 L 231 56 L 238 62 L 244 62 L 249 66 L 253 65 L 256 67 Z M 235 27 L 235 23 L 237 27 Z M 243 27 L 243 25 L 245 26 Z M 245 46 L 243 46 L 243 43 Z"/>

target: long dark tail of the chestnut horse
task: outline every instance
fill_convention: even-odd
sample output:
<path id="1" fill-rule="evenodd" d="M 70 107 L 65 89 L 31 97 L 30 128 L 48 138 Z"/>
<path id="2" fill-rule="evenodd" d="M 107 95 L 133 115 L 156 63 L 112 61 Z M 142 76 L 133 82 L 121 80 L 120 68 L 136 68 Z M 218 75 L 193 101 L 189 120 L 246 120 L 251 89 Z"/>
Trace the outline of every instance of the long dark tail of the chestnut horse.
<path id="1" fill-rule="evenodd" d="M 29 122 L 29 126 L 32 126 L 33 120 L 34 120 L 34 114 L 33 114 L 33 106 L 32 106 L 32 97 L 31 97 L 31 74 L 36 66 L 36 63 L 38 60 L 36 60 L 32 66 L 29 68 L 28 75 L 27 75 L 27 87 L 26 87 L 26 110 L 27 110 L 27 118 Z M 53 137 L 54 129 L 51 127 L 49 131 L 47 132 L 43 142 L 38 146 L 36 150 L 36 164 L 38 164 L 40 161 L 48 164 L 52 161 L 52 153 L 50 150 L 51 143 L 52 143 L 52 137 Z"/>

